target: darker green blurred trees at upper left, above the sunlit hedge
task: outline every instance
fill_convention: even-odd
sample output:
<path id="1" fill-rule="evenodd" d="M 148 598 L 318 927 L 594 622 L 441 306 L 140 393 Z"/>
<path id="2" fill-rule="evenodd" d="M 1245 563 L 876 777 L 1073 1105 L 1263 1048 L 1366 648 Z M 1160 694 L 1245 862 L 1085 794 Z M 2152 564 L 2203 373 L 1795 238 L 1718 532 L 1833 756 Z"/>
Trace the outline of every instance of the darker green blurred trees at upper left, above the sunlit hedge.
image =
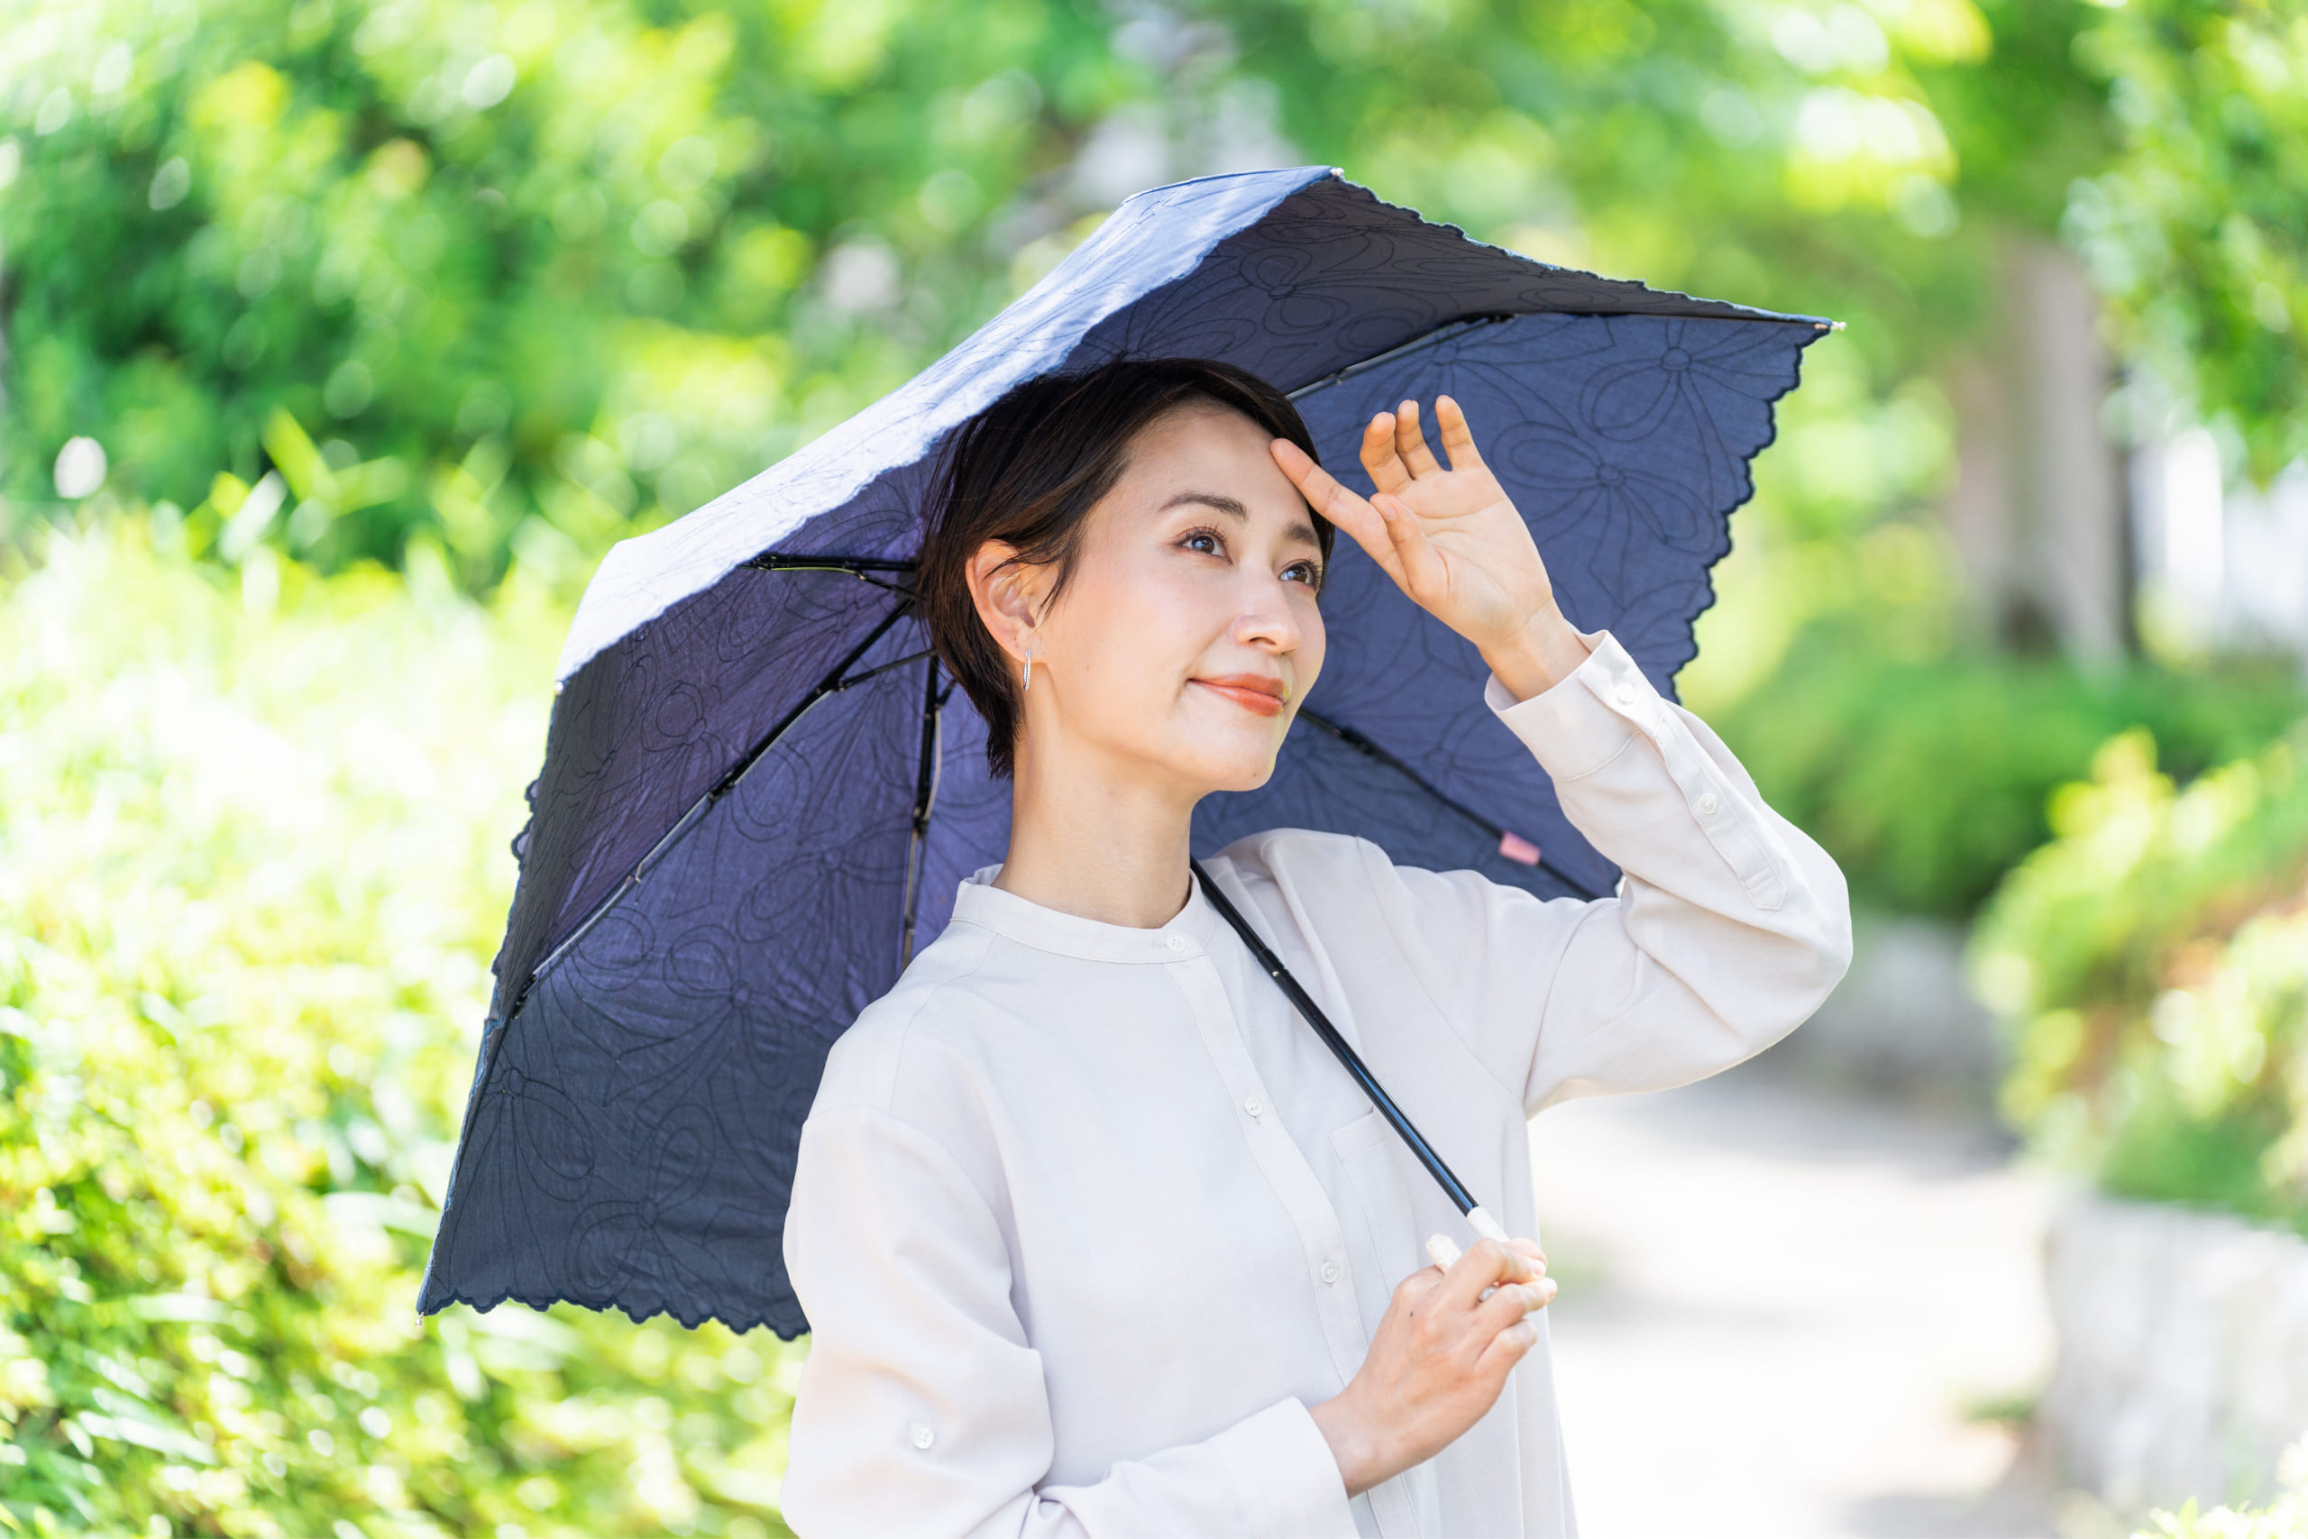
<path id="1" fill-rule="evenodd" d="M 0 0 L 0 496 L 48 505 L 95 434 L 196 549 L 275 468 L 242 547 L 415 531 L 473 586 L 902 381 L 1009 298 L 979 235 L 1133 78 L 1059 0 Z"/>

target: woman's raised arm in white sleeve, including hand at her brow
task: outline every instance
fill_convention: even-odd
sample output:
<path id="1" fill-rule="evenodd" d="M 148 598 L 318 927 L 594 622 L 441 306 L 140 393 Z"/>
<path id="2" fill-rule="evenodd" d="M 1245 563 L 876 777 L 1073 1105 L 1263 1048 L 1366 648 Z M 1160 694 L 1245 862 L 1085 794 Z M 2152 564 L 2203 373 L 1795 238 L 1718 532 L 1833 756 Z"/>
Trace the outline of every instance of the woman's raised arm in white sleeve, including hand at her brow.
<path id="1" fill-rule="evenodd" d="M 1436 397 L 1436 425 L 1447 466 L 1417 401 L 1371 418 L 1369 501 L 1288 441 L 1274 461 L 1482 651 L 1491 708 L 1625 881 L 1616 898 L 1542 904 L 1477 872 L 1396 872 L 1380 856 L 1382 907 L 1442 1013 L 1530 1110 L 1683 1084 L 1761 1052 L 1851 962 L 1842 872 L 1609 632 L 1569 630 L 1530 526 L 1449 397 Z"/>

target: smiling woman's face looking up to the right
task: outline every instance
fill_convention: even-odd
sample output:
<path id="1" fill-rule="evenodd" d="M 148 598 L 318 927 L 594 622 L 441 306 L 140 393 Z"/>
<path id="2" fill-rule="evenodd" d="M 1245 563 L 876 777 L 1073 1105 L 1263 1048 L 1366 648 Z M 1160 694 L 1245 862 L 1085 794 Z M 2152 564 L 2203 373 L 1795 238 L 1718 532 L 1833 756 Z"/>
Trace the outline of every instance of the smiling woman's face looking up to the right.
<path id="1" fill-rule="evenodd" d="M 1131 441 L 1029 632 L 1022 771 L 1103 764 L 1189 801 L 1274 773 L 1322 671 L 1322 547 L 1269 443 L 1214 404 L 1166 413 Z M 1039 577 L 1036 595 L 1055 572 Z"/>

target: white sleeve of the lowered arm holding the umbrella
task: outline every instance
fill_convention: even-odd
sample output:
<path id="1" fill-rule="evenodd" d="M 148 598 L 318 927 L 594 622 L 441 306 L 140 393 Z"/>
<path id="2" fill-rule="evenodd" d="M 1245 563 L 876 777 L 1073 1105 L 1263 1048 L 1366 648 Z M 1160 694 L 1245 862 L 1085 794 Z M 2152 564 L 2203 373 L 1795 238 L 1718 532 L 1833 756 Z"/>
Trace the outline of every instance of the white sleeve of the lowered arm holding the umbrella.
<path id="1" fill-rule="evenodd" d="M 812 1327 L 785 1477 L 803 1537 L 1355 1532 L 1329 1444 L 1295 1398 L 1094 1484 L 1036 1488 L 1050 1401 L 995 1207 L 886 1110 L 812 1110 L 785 1260 Z"/>

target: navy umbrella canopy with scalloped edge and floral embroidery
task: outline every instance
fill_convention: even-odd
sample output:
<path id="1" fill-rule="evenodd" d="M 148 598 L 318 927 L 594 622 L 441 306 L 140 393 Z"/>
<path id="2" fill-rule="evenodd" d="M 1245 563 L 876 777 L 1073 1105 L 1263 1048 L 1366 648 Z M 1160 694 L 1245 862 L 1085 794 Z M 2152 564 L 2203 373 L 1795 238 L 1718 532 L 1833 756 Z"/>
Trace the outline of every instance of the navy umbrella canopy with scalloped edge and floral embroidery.
<path id="1" fill-rule="evenodd" d="M 1322 166 L 1202 178 L 1124 203 L 902 390 L 616 545 L 561 658 L 418 1306 L 808 1329 L 780 1241 L 826 1050 L 1009 840 L 986 727 L 909 609 L 937 452 L 1004 390 L 1226 360 L 1290 390 L 1364 494 L 1371 413 L 1449 392 L 1567 618 L 1664 692 L 1773 401 L 1826 328 L 1549 268 Z M 1322 611 L 1329 655 L 1274 778 L 1207 798 L 1196 854 L 1302 826 L 1542 895 L 1616 884 L 1482 704 L 1470 644 L 1350 540 Z"/>

